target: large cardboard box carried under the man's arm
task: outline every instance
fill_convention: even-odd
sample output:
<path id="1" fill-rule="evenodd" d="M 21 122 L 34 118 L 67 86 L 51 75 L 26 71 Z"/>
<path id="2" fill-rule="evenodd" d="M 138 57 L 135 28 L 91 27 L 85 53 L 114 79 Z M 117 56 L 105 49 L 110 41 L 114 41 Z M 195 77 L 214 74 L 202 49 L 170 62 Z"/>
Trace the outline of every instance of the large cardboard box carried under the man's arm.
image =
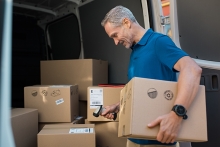
<path id="1" fill-rule="evenodd" d="M 133 78 L 121 91 L 119 137 L 156 139 L 159 126 L 147 124 L 171 111 L 177 95 L 177 82 Z M 182 121 L 177 141 L 207 141 L 205 87 L 187 110 L 188 119 Z"/>

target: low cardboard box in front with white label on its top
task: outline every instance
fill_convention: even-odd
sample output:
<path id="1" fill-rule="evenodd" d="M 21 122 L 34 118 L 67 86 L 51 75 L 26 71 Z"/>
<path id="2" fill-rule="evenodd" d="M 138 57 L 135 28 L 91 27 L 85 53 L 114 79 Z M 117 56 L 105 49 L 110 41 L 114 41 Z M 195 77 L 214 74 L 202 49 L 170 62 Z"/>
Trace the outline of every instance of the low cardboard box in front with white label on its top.
<path id="1" fill-rule="evenodd" d="M 95 147 L 93 124 L 45 125 L 37 135 L 38 147 Z"/>

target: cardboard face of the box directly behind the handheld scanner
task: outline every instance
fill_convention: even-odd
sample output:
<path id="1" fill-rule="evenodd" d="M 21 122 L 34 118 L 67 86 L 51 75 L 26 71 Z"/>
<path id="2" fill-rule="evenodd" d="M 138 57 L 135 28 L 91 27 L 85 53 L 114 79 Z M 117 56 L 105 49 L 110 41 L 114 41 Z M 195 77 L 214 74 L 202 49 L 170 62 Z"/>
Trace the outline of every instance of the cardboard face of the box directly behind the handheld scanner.
<path id="1" fill-rule="evenodd" d="M 116 104 L 120 101 L 120 92 L 123 87 L 98 87 L 98 86 L 90 86 L 88 87 L 88 101 L 87 101 L 87 119 L 88 121 L 114 121 L 114 120 L 109 120 L 107 118 L 104 118 L 102 116 L 99 117 L 94 117 L 93 112 L 96 110 L 96 108 L 91 107 L 91 98 L 90 98 L 90 93 L 91 90 L 97 89 L 97 90 L 102 90 L 103 96 L 103 106 L 108 106 L 112 104 Z M 97 105 L 100 105 L 100 101 L 97 101 Z M 93 105 L 93 104 L 92 104 Z M 96 105 L 96 104 L 94 104 Z M 118 121 L 118 117 L 115 121 Z"/>

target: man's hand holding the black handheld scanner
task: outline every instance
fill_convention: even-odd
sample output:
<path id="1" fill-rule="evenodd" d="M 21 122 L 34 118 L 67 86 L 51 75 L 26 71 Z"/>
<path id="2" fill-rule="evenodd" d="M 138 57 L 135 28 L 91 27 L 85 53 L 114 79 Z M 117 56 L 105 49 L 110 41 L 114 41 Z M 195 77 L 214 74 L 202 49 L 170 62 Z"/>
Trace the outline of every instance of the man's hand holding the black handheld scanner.
<path id="1" fill-rule="evenodd" d="M 118 113 L 119 112 L 119 103 L 105 106 L 105 111 L 102 112 L 100 115 L 107 118 L 107 119 L 113 119 L 114 115 L 112 113 Z"/>

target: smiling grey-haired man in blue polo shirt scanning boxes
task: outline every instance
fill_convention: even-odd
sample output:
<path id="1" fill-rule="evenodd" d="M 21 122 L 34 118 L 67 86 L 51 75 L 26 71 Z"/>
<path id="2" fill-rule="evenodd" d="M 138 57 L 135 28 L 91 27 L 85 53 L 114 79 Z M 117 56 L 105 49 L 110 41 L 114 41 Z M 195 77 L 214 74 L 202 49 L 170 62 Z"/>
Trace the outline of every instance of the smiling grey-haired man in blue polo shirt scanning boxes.
<path id="1" fill-rule="evenodd" d="M 178 94 L 174 106 L 181 105 L 183 109 L 188 110 L 197 93 L 202 72 L 194 60 L 176 47 L 168 36 L 141 27 L 132 12 L 123 6 L 116 6 L 110 10 L 101 24 L 116 45 L 122 44 L 132 49 L 128 69 L 129 80 L 142 77 L 176 81 L 176 72 L 179 72 Z M 119 103 L 105 108 L 102 116 L 113 119 L 112 112 L 119 111 Z M 179 116 L 174 111 L 158 116 L 156 120 L 147 124 L 149 128 L 160 125 L 157 141 L 129 139 L 127 146 L 175 146 L 181 122 L 187 121 L 185 116 Z"/>

